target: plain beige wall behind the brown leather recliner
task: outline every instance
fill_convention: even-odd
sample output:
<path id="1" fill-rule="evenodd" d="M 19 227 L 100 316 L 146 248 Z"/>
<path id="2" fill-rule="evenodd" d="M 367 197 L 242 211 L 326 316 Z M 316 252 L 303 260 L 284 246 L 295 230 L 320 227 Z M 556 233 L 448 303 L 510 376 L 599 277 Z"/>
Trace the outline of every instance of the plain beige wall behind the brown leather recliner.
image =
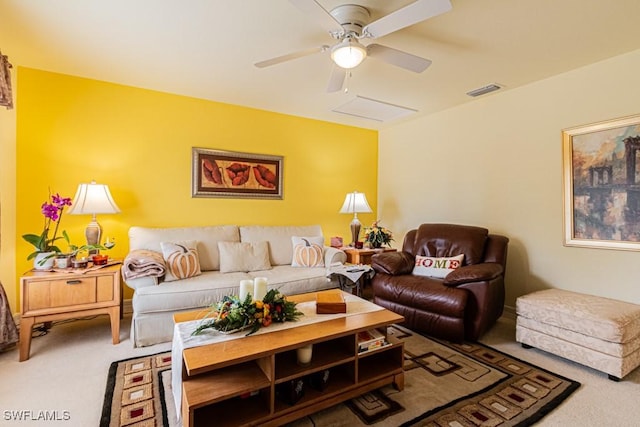
<path id="1" fill-rule="evenodd" d="M 640 303 L 638 252 L 563 246 L 562 129 L 640 113 L 640 50 L 380 132 L 378 212 L 511 241 L 507 306 L 544 288 Z M 425 95 L 427 96 L 427 95 Z"/>

